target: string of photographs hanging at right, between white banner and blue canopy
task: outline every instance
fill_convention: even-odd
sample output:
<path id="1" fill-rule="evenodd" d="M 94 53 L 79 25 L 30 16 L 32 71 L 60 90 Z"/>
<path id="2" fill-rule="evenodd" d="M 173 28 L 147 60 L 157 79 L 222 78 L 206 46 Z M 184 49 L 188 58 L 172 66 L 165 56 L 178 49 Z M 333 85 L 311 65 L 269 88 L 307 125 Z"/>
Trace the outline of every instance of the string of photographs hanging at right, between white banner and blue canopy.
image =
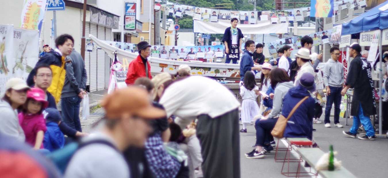
<path id="1" fill-rule="evenodd" d="M 329 29 L 325 31 L 319 31 L 317 33 L 312 33 L 312 34 L 309 34 L 308 36 L 313 38 L 313 41 L 314 41 L 313 45 L 318 46 L 318 45 L 333 43 L 333 41 L 331 40 L 332 32 L 333 32 L 333 29 Z M 277 51 L 280 48 L 284 47 L 284 45 L 289 45 L 292 50 L 291 56 L 293 56 L 298 52 L 298 50 L 294 50 L 294 49 L 300 49 L 302 47 L 300 43 L 301 38 L 302 36 L 282 38 L 276 41 L 268 42 L 265 45 L 268 47 L 268 50 L 271 55 L 277 54 Z"/>

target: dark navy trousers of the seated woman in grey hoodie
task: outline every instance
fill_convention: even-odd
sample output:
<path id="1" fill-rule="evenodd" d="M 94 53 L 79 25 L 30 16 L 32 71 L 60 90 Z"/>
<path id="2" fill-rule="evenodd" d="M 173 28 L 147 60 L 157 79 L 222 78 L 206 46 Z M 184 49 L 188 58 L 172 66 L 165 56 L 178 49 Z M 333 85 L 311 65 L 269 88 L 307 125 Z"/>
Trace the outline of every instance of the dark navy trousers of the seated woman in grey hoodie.
<path id="1" fill-rule="evenodd" d="M 278 118 L 257 119 L 255 122 L 256 128 L 256 146 L 266 146 L 267 143 L 274 141 L 271 135 Z"/>

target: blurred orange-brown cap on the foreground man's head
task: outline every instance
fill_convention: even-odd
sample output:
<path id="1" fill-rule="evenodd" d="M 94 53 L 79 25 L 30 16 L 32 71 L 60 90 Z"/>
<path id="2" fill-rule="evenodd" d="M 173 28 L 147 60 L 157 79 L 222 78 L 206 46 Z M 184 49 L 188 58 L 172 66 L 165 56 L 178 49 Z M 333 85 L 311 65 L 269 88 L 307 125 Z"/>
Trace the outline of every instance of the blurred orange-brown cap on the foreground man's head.
<path id="1" fill-rule="evenodd" d="M 166 116 L 163 109 L 151 105 L 147 91 L 138 86 L 115 90 L 101 102 L 107 119 L 118 119 L 125 114 L 143 119 L 157 119 Z"/>

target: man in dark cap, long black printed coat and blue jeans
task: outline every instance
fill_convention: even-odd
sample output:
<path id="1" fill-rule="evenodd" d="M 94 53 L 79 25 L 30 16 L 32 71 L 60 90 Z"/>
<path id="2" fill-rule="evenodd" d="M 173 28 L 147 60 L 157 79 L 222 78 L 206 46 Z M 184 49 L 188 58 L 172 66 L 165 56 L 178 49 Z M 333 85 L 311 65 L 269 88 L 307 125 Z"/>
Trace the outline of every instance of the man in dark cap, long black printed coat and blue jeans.
<path id="1" fill-rule="evenodd" d="M 345 88 L 341 91 L 344 96 L 349 88 L 354 88 L 352 109 L 353 126 L 350 131 L 343 131 L 347 137 L 356 138 L 357 129 L 360 123 L 364 126 L 366 135 L 358 137 L 360 140 L 375 140 L 374 130 L 369 116 L 376 114 L 376 102 L 374 99 L 374 86 L 371 75 L 371 64 L 360 54 L 361 46 L 353 43 L 348 46 L 350 62 L 348 76 L 346 77 Z"/>

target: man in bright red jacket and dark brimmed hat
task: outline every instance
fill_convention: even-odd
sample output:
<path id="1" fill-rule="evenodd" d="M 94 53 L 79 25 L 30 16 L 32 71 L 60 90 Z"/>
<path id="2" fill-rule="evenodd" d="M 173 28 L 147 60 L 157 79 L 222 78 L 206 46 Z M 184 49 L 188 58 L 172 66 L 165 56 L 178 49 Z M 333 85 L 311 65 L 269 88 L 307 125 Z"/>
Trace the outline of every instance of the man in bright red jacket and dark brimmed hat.
<path id="1" fill-rule="evenodd" d="M 140 77 L 152 79 L 151 65 L 147 59 L 151 55 L 151 45 L 146 41 L 140 41 L 137 44 L 137 48 L 139 49 L 139 55 L 128 66 L 128 73 L 126 73 L 125 79 L 126 85 L 133 85 L 135 80 Z"/>

